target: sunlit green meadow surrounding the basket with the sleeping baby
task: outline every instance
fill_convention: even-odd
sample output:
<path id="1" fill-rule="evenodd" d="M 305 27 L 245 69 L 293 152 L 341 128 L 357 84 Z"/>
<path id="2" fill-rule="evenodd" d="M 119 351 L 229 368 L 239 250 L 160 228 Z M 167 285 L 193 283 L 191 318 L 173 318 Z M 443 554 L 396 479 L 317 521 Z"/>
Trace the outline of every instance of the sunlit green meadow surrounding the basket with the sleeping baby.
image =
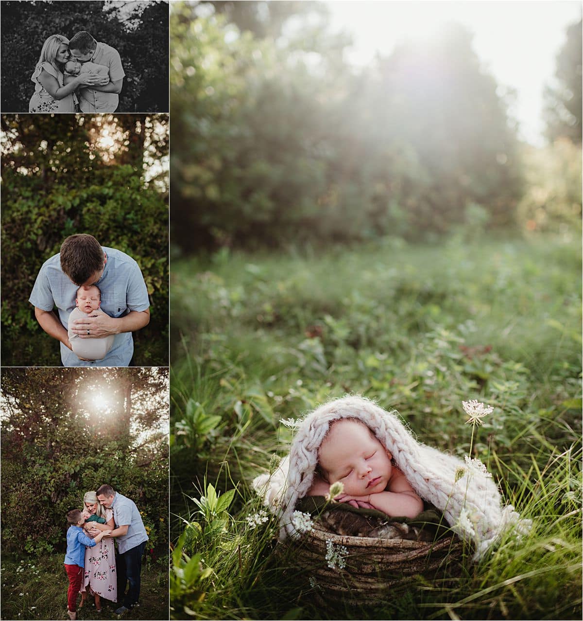
<path id="1" fill-rule="evenodd" d="M 173 262 L 171 615 L 175 619 L 581 618 L 581 246 L 459 230 L 443 243 L 289 248 Z M 296 419 L 354 392 L 421 442 L 470 450 L 533 520 L 447 584 L 323 608 L 251 479 Z M 217 496 L 218 495 L 218 496 Z"/>

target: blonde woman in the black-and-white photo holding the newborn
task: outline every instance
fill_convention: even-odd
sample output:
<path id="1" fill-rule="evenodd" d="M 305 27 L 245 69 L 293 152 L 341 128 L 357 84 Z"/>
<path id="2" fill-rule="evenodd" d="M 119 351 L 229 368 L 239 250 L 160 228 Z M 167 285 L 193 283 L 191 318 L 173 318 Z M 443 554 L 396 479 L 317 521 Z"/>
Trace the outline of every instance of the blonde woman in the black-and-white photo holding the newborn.
<path id="1" fill-rule="evenodd" d="M 35 83 L 35 92 L 30 97 L 29 112 L 74 112 L 75 89 L 104 83 L 103 78 L 84 73 L 65 84 L 63 71 L 69 58 L 69 40 L 63 35 L 51 35 L 43 43 L 30 78 Z"/>

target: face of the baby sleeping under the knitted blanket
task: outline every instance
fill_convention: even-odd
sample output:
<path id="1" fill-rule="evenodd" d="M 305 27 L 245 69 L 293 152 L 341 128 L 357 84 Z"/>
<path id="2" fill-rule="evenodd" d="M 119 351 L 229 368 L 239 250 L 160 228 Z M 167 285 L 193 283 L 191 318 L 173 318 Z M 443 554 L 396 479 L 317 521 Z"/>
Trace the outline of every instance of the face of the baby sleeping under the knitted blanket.
<path id="1" fill-rule="evenodd" d="M 370 429 L 355 420 L 332 425 L 318 451 L 330 484 L 340 481 L 344 494 L 368 496 L 384 491 L 391 478 L 391 455 Z"/>

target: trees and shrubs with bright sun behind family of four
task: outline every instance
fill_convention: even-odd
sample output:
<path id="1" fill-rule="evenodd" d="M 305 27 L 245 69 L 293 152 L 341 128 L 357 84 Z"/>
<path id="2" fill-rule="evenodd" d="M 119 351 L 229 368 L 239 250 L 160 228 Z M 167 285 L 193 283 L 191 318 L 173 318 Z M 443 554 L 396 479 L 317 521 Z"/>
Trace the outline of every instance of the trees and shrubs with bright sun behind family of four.
<path id="1" fill-rule="evenodd" d="M 1 387 L 2 551 L 64 551 L 66 512 L 109 483 L 164 555 L 167 369 L 5 368 Z"/>

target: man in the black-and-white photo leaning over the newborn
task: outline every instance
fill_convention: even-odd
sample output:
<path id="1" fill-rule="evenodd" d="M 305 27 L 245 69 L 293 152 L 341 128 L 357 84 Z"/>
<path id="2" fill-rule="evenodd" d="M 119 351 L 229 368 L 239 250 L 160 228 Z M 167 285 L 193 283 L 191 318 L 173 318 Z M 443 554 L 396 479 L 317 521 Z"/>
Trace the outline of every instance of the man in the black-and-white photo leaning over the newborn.
<path id="1" fill-rule="evenodd" d="M 91 61 L 109 68 L 109 83 L 104 86 L 80 88 L 79 106 L 82 112 L 115 112 L 119 104 L 125 71 L 118 51 L 106 43 L 97 42 L 82 30 L 69 41 L 69 53 L 81 63 Z M 65 76 L 65 84 L 69 81 Z"/>

